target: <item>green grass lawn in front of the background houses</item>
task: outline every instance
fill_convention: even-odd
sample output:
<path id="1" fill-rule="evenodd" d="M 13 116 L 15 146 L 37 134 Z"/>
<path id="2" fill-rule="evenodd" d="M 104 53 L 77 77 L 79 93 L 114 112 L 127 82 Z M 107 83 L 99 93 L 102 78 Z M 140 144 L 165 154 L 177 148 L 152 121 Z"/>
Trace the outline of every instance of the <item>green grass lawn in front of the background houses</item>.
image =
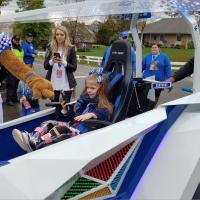
<path id="1" fill-rule="evenodd" d="M 102 57 L 106 46 L 91 49 L 87 52 L 77 52 L 78 55 L 84 56 L 99 56 Z M 150 52 L 150 48 L 143 48 L 143 56 Z M 184 62 L 189 60 L 193 54 L 194 49 L 175 49 L 175 48 L 161 48 L 161 52 L 169 56 L 169 59 L 173 62 Z"/>

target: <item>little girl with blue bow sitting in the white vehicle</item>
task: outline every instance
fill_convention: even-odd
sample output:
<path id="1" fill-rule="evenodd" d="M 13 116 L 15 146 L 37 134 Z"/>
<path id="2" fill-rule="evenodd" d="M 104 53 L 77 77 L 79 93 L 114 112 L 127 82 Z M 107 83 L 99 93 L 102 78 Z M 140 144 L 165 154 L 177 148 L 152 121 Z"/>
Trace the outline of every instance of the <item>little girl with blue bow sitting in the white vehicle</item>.
<path id="1" fill-rule="evenodd" d="M 85 81 L 85 89 L 74 109 L 67 110 L 62 102 L 66 122 L 49 120 L 36 127 L 32 133 L 14 129 L 12 135 L 27 152 L 87 132 L 87 119 L 109 121 L 113 105 L 108 101 L 108 81 L 102 69 L 93 70 Z"/>

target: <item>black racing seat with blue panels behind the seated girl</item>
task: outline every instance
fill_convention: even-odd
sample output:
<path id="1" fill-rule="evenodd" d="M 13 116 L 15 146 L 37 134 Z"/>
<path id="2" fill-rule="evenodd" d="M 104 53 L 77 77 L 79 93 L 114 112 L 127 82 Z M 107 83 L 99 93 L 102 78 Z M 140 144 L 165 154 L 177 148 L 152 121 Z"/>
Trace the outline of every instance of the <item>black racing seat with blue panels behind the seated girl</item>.
<path id="1" fill-rule="evenodd" d="M 111 123 L 119 122 L 127 115 L 132 93 L 131 63 L 131 44 L 126 40 L 115 41 L 103 70 L 110 80 L 111 102 L 114 105 Z"/>

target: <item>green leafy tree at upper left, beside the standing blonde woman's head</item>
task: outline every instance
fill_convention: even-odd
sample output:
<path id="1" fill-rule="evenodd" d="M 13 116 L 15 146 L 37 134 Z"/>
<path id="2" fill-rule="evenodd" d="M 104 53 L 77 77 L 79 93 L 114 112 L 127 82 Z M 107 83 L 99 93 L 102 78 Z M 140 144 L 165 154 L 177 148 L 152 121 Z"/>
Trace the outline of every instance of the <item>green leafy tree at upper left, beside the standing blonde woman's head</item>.
<path id="1" fill-rule="evenodd" d="M 19 8 L 17 12 L 45 7 L 44 0 L 18 0 L 17 5 Z M 53 24 L 49 22 L 15 24 L 14 33 L 21 35 L 22 39 L 25 39 L 26 34 L 31 32 L 34 36 L 36 47 L 45 48 L 51 35 L 52 26 Z"/>

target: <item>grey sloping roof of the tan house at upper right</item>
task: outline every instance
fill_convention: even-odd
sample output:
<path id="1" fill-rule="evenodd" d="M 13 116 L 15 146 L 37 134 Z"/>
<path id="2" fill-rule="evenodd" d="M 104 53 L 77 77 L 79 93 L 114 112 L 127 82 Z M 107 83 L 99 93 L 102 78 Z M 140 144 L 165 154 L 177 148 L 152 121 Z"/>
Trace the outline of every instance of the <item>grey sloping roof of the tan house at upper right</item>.
<path id="1" fill-rule="evenodd" d="M 147 24 L 144 33 L 191 34 L 188 24 L 182 18 L 161 19 Z"/>

